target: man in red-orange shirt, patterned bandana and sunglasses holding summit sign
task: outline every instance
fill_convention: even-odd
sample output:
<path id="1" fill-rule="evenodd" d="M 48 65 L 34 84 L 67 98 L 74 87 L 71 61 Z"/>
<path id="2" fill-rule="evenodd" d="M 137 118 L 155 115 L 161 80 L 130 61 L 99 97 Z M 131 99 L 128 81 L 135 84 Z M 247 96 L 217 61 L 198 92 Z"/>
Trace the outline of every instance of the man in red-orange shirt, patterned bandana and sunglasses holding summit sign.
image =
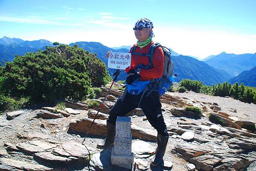
<path id="1" fill-rule="evenodd" d="M 126 68 L 128 77 L 126 78 L 126 89 L 119 97 L 116 104 L 109 112 L 107 120 L 107 137 L 99 142 L 97 148 L 106 148 L 113 144 L 115 137 L 115 124 L 118 116 L 124 116 L 140 105 L 149 123 L 157 130 L 157 151 L 151 160 L 154 166 L 163 162 L 166 145 L 169 139 L 166 124 L 163 119 L 160 97 L 158 94 L 157 78 L 163 74 L 164 53 L 161 47 L 157 47 L 154 52 L 153 61 L 149 61 L 147 56 L 149 48 L 154 44 L 152 37 L 153 24 L 147 18 L 141 18 L 133 28 L 137 43 L 131 48 L 131 66 Z M 107 53 L 107 57 L 109 52 Z M 140 87 L 140 88 L 133 88 Z M 157 88 L 152 88 L 157 86 Z M 143 92 L 145 88 L 147 91 Z M 151 87 L 151 88 L 150 88 Z"/>

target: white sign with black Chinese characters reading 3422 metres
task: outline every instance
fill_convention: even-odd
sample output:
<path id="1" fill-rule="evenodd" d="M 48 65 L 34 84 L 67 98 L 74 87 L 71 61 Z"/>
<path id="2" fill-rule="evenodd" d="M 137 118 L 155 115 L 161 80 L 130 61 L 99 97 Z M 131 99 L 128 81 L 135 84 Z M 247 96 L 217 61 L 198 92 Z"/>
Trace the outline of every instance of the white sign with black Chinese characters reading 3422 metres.
<path id="1" fill-rule="evenodd" d="M 125 69 L 131 66 L 131 53 L 111 52 L 108 57 L 108 68 Z"/>

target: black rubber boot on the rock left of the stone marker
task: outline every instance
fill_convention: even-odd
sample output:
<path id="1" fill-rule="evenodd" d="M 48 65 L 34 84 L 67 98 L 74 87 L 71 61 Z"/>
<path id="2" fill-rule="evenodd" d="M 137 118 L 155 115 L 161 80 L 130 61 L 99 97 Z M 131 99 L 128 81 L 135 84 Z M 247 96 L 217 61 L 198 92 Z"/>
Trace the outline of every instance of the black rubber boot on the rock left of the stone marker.
<path id="1" fill-rule="evenodd" d="M 116 125 L 107 122 L 107 137 L 97 144 L 97 148 L 107 148 L 113 145 L 116 134 Z"/>

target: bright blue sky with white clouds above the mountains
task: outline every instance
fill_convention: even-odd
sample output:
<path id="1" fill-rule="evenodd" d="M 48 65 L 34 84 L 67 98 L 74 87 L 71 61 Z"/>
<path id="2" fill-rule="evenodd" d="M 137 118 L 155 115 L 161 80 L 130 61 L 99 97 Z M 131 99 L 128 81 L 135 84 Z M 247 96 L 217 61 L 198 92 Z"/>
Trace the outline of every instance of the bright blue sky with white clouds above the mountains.
<path id="1" fill-rule="evenodd" d="M 152 20 L 153 40 L 183 55 L 256 52 L 256 0 L 0 0 L 0 37 L 105 46 L 136 43 Z"/>

